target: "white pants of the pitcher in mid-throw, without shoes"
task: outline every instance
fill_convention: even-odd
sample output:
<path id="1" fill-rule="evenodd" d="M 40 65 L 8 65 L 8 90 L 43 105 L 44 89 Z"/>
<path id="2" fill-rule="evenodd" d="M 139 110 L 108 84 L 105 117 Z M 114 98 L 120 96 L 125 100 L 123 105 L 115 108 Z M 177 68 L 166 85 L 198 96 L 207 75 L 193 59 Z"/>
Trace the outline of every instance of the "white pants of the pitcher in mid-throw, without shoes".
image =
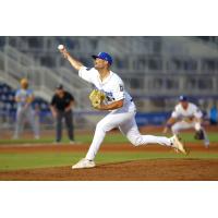
<path id="1" fill-rule="evenodd" d="M 146 144 L 160 144 L 171 146 L 171 141 L 165 136 L 141 135 L 137 124 L 135 122 L 135 112 L 110 112 L 96 125 L 93 143 L 86 155 L 86 159 L 94 160 L 95 156 L 110 130 L 119 128 L 119 130 L 128 137 L 128 140 L 135 146 Z"/>

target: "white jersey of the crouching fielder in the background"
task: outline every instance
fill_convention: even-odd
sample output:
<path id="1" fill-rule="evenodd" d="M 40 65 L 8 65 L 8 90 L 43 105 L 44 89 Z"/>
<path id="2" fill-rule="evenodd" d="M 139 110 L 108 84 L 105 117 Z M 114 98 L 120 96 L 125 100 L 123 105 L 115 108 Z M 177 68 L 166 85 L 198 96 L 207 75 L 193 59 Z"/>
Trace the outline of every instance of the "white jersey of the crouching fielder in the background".
<path id="1" fill-rule="evenodd" d="M 192 102 L 189 102 L 186 110 L 182 107 L 181 104 L 178 104 L 172 111 L 171 117 L 179 119 L 179 120 L 184 120 L 184 119 L 190 119 L 192 120 L 193 118 L 202 118 L 203 113 L 198 109 L 198 107 Z"/>

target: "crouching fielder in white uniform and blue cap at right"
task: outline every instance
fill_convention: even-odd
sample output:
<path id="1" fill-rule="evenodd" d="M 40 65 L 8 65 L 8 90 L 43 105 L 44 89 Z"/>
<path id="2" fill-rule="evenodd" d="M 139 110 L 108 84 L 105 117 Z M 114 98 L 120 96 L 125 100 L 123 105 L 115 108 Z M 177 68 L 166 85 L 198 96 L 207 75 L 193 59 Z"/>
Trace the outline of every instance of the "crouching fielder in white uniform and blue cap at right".
<path id="1" fill-rule="evenodd" d="M 171 118 L 167 121 L 164 133 L 171 130 L 173 134 L 180 133 L 182 130 L 194 129 L 195 138 L 203 140 L 205 147 L 209 146 L 205 129 L 202 126 L 203 113 L 198 107 L 189 102 L 186 96 L 180 96 L 179 104 L 172 111 Z"/>

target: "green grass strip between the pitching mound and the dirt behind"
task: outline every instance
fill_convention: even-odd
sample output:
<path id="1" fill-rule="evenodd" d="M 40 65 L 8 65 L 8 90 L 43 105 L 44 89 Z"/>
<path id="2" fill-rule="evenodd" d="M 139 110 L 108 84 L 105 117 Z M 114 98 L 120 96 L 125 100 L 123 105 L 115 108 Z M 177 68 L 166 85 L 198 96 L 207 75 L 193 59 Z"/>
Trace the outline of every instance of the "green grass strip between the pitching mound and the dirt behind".
<path id="1" fill-rule="evenodd" d="M 71 166 L 84 157 L 85 153 L 31 153 L 31 154 L 0 154 L 0 170 L 32 169 L 45 167 Z M 96 162 L 120 162 L 141 159 L 174 159 L 174 158 L 197 158 L 216 159 L 218 154 L 191 153 L 183 156 L 174 153 L 146 153 L 146 152 L 117 152 L 99 153 Z"/>

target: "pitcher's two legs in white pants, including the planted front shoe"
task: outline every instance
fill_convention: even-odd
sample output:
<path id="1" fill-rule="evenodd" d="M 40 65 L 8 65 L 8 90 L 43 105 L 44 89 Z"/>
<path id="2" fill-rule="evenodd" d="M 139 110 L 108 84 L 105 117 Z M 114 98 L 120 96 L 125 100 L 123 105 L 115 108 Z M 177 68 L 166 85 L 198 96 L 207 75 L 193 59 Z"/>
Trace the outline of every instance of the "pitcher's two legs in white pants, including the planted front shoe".
<path id="1" fill-rule="evenodd" d="M 95 156 L 106 136 L 106 133 L 114 128 L 121 126 L 120 129 L 124 132 L 126 131 L 128 138 L 135 145 L 148 144 L 148 143 L 159 143 L 161 145 L 173 146 L 179 144 L 177 138 L 158 137 L 153 135 L 141 135 L 137 131 L 137 126 L 134 121 L 135 112 L 123 112 L 123 113 L 109 113 L 96 125 L 95 135 L 93 143 L 88 149 L 88 153 L 84 159 L 74 165 L 73 169 L 78 168 L 92 168 L 95 167 Z M 129 125 L 129 123 L 131 123 Z M 128 129 L 124 129 L 128 124 Z M 182 145 L 181 145 L 182 146 Z M 181 148 L 179 148 L 181 150 Z"/>

